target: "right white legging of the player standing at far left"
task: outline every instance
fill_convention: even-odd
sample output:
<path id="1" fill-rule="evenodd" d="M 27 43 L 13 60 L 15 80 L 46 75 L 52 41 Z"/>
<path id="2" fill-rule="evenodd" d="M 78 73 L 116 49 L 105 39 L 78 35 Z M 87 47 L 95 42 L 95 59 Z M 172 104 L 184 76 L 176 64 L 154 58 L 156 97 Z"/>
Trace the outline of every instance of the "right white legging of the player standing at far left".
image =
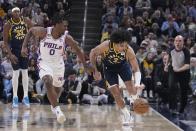
<path id="1" fill-rule="evenodd" d="M 28 96 L 28 84 L 29 84 L 29 79 L 28 79 L 28 70 L 22 70 L 22 86 L 23 86 L 23 91 L 24 91 L 24 97 Z"/>

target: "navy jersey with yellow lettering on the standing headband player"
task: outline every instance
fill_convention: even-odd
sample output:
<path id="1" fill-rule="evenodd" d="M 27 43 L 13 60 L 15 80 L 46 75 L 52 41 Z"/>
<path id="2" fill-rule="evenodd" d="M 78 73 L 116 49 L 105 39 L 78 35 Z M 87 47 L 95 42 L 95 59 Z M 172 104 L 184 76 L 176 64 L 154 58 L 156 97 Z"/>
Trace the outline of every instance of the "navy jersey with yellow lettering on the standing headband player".
<path id="1" fill-rule="evenodd" d="M 11 29 L 9 30 L 10 47 L 13 50 L 21 50 L 23 40 L 27 34 L 27 25 L 23 18 L 20 18 L 18 23 L 14 22 L 11 18 L 8 20 L 8 23 L 11 25 Z"/>

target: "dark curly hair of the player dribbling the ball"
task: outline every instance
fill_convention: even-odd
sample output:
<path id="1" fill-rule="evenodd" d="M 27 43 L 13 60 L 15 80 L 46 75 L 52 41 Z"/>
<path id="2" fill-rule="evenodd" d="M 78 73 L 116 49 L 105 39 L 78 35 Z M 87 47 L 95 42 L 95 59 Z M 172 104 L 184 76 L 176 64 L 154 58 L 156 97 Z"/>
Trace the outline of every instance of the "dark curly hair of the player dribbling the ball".
<path id="1" fill-rule="evenodd" d="M 112 32 L 112 34 L 110 36 L 110 41 L 112 43 L 116 43 L 116 44 L 119 44 L 122 42 L 129 43 L 131 41 L 131 34 L 127 30 L 118 29 L 118 30 Z"/>

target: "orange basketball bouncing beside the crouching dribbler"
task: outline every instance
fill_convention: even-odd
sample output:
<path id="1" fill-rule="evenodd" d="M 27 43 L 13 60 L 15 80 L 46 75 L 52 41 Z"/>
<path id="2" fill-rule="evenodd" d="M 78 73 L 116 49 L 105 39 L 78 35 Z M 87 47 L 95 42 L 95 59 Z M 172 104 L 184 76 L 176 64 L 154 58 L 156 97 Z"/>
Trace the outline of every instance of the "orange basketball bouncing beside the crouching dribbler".
<path id="1" fill-rule="evenodd" d="M 137 114 L 144 114 L 149 110 L 149 103 L 144 98 L 138 98 L 133 103 L 133 110 Z"/>

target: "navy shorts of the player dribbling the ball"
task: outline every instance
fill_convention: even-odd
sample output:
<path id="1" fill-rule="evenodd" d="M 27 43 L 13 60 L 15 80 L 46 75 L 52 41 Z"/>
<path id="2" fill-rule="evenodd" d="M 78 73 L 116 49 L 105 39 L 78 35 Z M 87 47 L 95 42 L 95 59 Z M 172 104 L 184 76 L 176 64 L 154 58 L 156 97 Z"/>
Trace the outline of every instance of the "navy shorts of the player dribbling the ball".
<path id="1" fill-rule="evenodd" d="M 109 84 L 109 86 L 119 84 L 118 75 L 122 78 L 124 82 L 130 81 L 132 79 L 132 72 L 130 68 L 131 67 L 128 63 L 124 63 L 116 67 L 105 66 L 104 75 L 105 75 L 107 84 Z"/>

